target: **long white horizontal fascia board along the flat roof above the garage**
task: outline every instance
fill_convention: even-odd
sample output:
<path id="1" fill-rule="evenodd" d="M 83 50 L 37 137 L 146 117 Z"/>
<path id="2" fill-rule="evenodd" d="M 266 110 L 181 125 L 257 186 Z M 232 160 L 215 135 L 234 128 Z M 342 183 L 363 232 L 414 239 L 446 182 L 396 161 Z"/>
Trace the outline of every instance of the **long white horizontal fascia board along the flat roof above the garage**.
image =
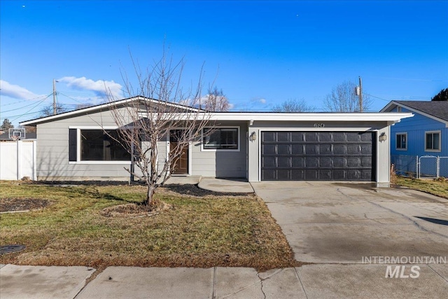
<path id="1" fill-rule="evenodd" d="M 197 115 L 176 113 L 175 120 L 240 120 L 240 121 L 343 121 L 398 123 L 412 113 L 201 113 Z"/>

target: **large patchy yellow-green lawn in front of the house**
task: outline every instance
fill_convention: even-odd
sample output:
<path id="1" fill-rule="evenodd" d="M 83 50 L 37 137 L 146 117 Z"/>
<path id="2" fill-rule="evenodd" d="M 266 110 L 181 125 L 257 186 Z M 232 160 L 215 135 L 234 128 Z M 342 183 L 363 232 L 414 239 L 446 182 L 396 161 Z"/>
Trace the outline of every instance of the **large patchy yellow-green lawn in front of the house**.
<path id="1" fill-rule="evenodd" d="M 44 199 L 48 205 L 1 214 L 0 245 L 23 244 L 27 249 L 3 254 L 0 263 L 258 269 L 297 265 L 279 225 L 255 195 L 195 196 L 173 186 L 156 194 L 171 209 L 153 216 L 103 216 L 107 207 L 141 201 L 145 190 L 138 185 L 1 181 L 0 200 Z"/>

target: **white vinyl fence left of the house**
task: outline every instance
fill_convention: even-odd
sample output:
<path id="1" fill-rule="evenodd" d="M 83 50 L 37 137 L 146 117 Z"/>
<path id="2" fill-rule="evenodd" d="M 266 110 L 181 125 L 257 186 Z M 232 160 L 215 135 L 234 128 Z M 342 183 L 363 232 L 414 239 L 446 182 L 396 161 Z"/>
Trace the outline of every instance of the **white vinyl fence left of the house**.
<path id="1" fill-rule="evenodd" d="M 0 180 L 36 181 L 36 140 L 0 141 Z"/>

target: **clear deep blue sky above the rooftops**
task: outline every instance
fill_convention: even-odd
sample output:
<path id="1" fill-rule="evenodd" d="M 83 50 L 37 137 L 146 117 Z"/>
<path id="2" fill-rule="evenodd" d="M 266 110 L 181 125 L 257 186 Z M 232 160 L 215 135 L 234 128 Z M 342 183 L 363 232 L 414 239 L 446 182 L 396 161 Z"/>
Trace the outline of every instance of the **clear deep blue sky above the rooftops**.
<path id="1" fill-rule="evenodd" d="M 448 87 L 448 1 L 2 0 L 0 121 L 38 117 L 53 78 L 69 109 L 104 101 L 104 82 L 120 97 L 130 52 L 146 66 L 164 43 L 187 85 L 204 64 L 235 111 L 287 99 L 323 111 L 358 76 L 371 111 Z"/>

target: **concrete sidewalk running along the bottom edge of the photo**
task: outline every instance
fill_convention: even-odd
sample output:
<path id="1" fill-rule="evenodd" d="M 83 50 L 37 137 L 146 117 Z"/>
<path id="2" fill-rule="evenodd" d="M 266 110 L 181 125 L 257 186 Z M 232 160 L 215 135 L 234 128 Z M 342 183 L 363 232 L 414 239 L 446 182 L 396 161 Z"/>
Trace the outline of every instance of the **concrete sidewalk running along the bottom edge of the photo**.
<path id="1" fill-rule="evenodd" d="M 4 265 L 0 297 L 446 298 L 448 265 L 418 266 L 414 279 L 408 276 L 409 265 L 403 278 L 386 278 L 387 265 L 379 264 L 304 265 L 267 272 L 244 267 L 107 267 L 86 284 L 92 268 Z"/>

